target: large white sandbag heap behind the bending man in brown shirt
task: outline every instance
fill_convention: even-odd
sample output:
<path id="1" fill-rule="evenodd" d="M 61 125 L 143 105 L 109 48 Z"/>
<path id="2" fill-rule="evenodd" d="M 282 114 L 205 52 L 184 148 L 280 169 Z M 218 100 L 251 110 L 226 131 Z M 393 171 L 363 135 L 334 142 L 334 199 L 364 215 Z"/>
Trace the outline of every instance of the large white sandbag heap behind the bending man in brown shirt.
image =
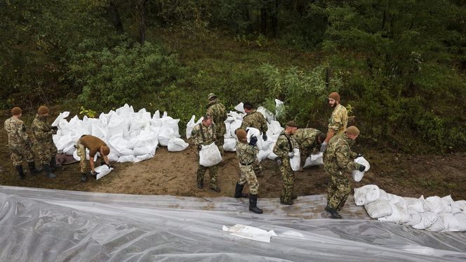
<path id="1" fill-rule="evenodd" d="M 69 122 L 65 119 L 69 112 L 62 112 L 52 126 L 58 126 L 57 134 L 53 136 L 59 152 L 77 156 L 74 144 L 83 135 L 96 136 L 110 148 L 111 162 L 140 162 L 154 157 L 157 145 L 168 146 L 169 151 L 180 151 L 188 144 L 180 139 L 178 122 L 180 119 L 168 117 L 164 112 L 151 116 L 145 108 L 135 112 L 128 104 L 98 118 L 74 116 Z M 88 154 L 88 152 L 87 152 Z M 88 158 L 88 156 L 87 156 Z M 97 159 L 97 158 L 95 158 Z"/>

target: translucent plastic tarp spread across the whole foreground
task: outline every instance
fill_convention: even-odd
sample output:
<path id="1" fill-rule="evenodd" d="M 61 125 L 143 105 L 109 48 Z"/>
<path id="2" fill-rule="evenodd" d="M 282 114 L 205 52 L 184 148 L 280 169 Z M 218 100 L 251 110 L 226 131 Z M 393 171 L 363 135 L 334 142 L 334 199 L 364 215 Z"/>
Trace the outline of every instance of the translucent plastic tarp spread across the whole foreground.
<path id="1" fill-rule="evenodd" d="M 466 235 L 367 220 L 350 196 L 326 218 L 323 195 L 259 199 L 116 195 L 0 187 L 1 261 L 465 261 Z M 312 219 L 314 218 L 314 219 Z M 223 225 L 273 230 L 269 243 Z"/>

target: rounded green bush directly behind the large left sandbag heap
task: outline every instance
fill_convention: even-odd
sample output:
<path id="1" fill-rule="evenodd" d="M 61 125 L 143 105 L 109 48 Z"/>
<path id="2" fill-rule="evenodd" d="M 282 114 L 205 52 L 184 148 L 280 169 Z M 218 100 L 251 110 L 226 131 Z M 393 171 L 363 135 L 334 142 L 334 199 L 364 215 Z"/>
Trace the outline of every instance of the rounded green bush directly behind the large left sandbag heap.
<path id="1" fill-rule="evenodd" d="M 75 55 L 69 75 L 82 85 L 79 99 L 84 105 L 117 107 L 171 85 L 181 74 L 176 61 L 176 56 L 168 55 L 161 46 L 123 42 L 111 50 Z"/>

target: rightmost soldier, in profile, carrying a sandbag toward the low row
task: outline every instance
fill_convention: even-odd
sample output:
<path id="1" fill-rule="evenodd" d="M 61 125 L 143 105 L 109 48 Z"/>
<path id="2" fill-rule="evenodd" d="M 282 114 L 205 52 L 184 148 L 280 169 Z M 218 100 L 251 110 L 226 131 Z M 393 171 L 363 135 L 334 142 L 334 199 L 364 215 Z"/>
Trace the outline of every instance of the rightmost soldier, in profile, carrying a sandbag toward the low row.
<path id="1" fill-rule="evenodd" d="M 366 169 L 366 166 L 353 161 L 358 155 L 349 148 L 349 145 L 358 136 L 359 129 L 356 126 L 349 126 L 345 133 L 333 136 L 324 153 L 324 169 L 331 176 L 331 181 L 328 185 L 328 203 L 325 210 L 331 214 L 332 218 L 341 218 L 337 211 L 341 211 L 349 192 L 351 192 L 346 173 L 353 170 L 364 171 Z"/>

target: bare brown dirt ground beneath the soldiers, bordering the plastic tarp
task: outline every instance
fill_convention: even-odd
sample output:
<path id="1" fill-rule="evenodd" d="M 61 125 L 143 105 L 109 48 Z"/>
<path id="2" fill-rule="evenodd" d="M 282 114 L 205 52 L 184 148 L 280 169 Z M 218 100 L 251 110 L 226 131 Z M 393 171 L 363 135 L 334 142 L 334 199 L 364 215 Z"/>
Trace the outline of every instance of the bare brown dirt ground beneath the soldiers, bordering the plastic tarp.
<path id="1" fill-rule="evenodd" d="M 2 116 L 1 122 L 6 118 Z M 28 120 L 32 122 L 30 117 Z M 158 148 L 154 158 L 137 164 L 115 163 L 115 170 L 98 181 L 89 179 L 87 183 L 81 183 L 77 163 L 62 166 L 55 172 L 58 177 L 54 179 L 46 178 L 44 173 L 32 176 L 28 172 L 27 178 L 21 181 L 11 164 L 8 138 L 4 129 L 0 130 L 0 146 L 0 185 L 140 195 L 231 197 L 239 178 L 236 153 L 227 152 L 218 170 L 218 181 L 222 191 L 217 193 L 208 188 L 208 174 L 205 177 L 204 189 L 197 188 L 196 152 L 194 146 L 190 145 L 182 152 L 168 152 L 166 148 Z M 368 159 L 371 169 L 366 172 L 361 182 L 352 181 L 353 188 L 375 184 L 387 192 L 404 197 L 451 195 L 455 200 L 466 199 L 465 153 L 445 156 L 401 155 L 394 152 L 376 152 L 361 148 L 360 145 L 357 145 L 354 151 L 361 152 Z M 265 159 L 261 164 L 264 176 L 258 178 L 260 197 L 279 197 L 279 169 L 269 159 Z M 26 163 L 23 166 L 26 168 Z M 327 183 L 328 175 L 322 166 L 295 172 L 295 192 L 298 195 L 325 194 Z"/>

